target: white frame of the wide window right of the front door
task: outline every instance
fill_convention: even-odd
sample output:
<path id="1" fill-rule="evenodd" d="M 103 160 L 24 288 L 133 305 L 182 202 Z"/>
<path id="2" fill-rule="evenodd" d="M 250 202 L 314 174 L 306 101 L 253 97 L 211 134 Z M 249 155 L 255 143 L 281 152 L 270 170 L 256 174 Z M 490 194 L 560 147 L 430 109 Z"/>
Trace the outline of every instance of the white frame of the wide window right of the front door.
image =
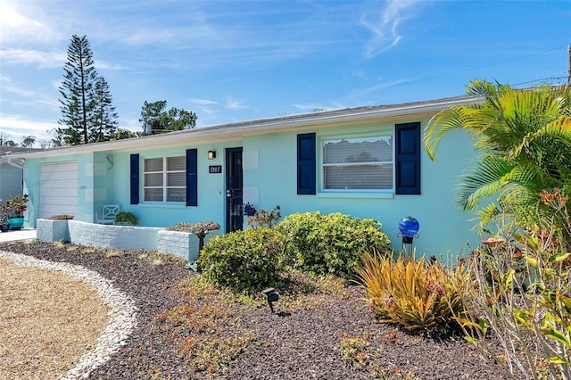
<path id="1" fill-rule="evenodd" d="M 332 141 L 337 141 L 337 140 L 352 140 L 352 139 L 362 139 L 362 138 L 370 138 L 370 139 L 385 139 L 385 138 L 390 138 L 391 139 L 391 145 L 392 145 L 392 149 L 391 149 L 391 160 L 392 161 L 366 161 L 366 162 L 351 162 L 351 163 L 325 163 L 325 145 L 328 142 L 332 142 Z M 320 169 L 320 179 L 321 179 L 321 185 L 320 185 L 320 189 L 319 192 L 323 193 L 323 194 L 327 194 L 327 193 L 343 193 L 343 194 L 365 194 L 365 193 L 376 193 L 376 194 L 393 194 L 394 193 L 394 178 L 395 178 L 395 154 L 394 154 L 394 133 L 391 132 L 386 132 L 386 133 L 380 133 L 380 134 L 375 134 L 375 135 L 359 135 L 359 134 L 355 134 L 355 135 L 351 135 L 351 136 L 322 136 L 319 139 L 319 145 L 320 145 L 320 157 L 319 157 L 319 169 Z M 386 164 L 391 164 L 392 165 L 392 171 L 391 171 L 391 188 L 385 188 L 385 189 L 381 189 L 381 188 L 377 188 L 377 189 L 372 189 L 372 188 L 363 188 L 363 189 L 359 189 L 359 188 L 350 188 L 350 189 L 343 189 L 343 188 L 332 188 L 332 189 L 327 189 L 326 188 L 326 173 L 325 170 L 327 167 L 341 167 L 341 166 L 359 166 L 359 165 L 378 165 L 379 167 L 381 165 L 386 165 Z"/>

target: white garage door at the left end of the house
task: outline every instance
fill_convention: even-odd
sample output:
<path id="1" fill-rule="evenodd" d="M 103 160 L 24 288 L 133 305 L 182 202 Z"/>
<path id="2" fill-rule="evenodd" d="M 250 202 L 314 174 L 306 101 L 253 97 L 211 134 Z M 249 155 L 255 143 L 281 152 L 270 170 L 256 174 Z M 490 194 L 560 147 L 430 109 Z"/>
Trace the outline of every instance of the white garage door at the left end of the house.
<path id="1" fill-rule="evenodd" d="M 39 176 L 39 217 L 78 214 L 78 163 L 42 165 Z"/>

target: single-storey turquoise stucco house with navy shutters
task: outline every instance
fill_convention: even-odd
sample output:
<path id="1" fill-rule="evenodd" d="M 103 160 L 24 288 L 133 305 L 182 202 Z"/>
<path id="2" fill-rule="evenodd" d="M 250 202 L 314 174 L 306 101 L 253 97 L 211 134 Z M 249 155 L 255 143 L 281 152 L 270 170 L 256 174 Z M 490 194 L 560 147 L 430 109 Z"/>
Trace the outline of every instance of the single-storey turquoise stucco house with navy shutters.
<path id="1" fill-rule="evenodd" d="M 422 133 L 435 113 L 480 102 L 460 96 L 250 120 L 93 145 L 18 153 L 26 227 L 68 213 L 94 222 L 103 205 L 119 204 L 139 224 L 167 227 L 213 220 L 222 232 L 247 227 L 242 205 L 343 212 L 381 221 L 401 249 L 398 224 L 420 223 L 417 254 L 466 251 L 474 215 L 454 203 L 457 176 L 475 152 L 455 131 L 432 162 Z"/>

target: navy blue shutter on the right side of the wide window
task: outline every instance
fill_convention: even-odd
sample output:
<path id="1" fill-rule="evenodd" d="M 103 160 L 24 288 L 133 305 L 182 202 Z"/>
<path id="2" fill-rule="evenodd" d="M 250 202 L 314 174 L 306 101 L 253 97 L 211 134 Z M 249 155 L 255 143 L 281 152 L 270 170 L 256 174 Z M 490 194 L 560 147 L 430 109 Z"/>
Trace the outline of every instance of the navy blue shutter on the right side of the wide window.
<path id="1" fill-rule="evenodd" d="M 420 194 L 420 123 L 394 128 L 396 194 Z"/>

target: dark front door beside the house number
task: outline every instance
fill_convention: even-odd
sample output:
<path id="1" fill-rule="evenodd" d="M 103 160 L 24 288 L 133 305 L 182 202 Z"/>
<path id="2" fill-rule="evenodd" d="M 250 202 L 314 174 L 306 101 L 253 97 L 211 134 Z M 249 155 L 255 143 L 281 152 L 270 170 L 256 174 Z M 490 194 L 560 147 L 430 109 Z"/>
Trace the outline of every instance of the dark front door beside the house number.
<path id="1" fill-rule="evenodd" d="M 242 229 L 242 148 L 226 150 L 226 232 Z"/>

